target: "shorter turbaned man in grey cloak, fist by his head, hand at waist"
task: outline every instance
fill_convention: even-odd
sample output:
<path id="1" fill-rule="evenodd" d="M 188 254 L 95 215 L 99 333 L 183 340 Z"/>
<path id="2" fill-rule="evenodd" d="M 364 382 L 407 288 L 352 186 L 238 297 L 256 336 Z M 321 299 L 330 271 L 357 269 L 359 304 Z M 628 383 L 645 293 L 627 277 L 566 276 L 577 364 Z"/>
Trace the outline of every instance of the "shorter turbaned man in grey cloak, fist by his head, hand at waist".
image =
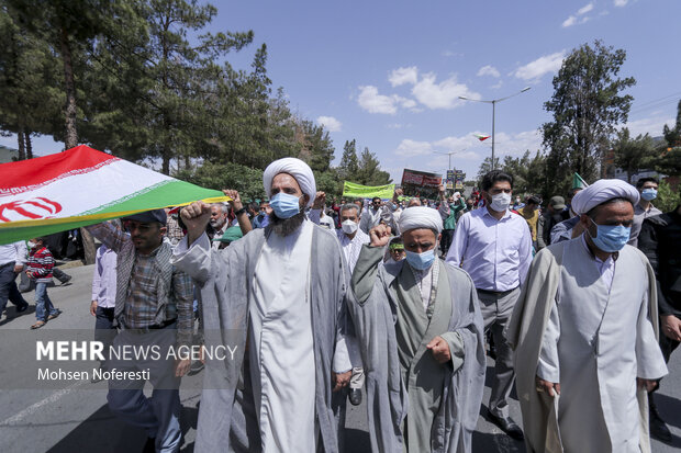
<path id="1" fill-rule="evenodd" d="M 373 452 L 469 452 L 485 358 L 470 276 L 436 258 L 437 211 L 400 216 L 406 259 L 383 263 L 390 228 L 371 229 L 353 273 Z"/>

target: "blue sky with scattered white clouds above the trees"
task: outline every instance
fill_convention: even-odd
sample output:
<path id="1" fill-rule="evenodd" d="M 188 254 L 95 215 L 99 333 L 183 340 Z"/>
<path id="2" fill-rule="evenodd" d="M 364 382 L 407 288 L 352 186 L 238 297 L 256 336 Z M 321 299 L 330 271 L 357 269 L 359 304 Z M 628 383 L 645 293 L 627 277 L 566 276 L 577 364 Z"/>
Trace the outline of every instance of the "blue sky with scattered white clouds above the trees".
<path id="1" fill-rule="evenodd" d="M 449 0 L 449 1 L 215 1 L 210 30 L 255 33 L 228 56 L 248 68 L 266 43 L 272 88 L 282 87 L 293 112 L 322 124 L 336 148 L 368 147 L 400 182 L 402 170 L 444 173 L 451 167 L 475 179 L 491 155 L 540 149 L 544 102 L 569 52 L 602 39 L 622 48 L 621 76 L 634 77 L 628 123 L 633 135 L 659 136 L 672 125 L 681 99 L 681 1 L 678 0 Z M 0 144 L 15 147 L 12 137 Z M 51 137 L 34 140 L 37 155 L 59 151 Z"/>

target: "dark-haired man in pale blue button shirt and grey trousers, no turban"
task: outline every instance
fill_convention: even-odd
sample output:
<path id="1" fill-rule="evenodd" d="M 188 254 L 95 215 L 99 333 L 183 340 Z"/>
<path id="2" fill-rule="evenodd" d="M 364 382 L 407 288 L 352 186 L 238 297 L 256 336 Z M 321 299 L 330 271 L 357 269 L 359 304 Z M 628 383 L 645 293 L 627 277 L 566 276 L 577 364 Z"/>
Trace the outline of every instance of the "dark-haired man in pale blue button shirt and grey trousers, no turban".
<path id="1" fill-rule="evenodd" d="M 490 171 L 481 183 L 484 206 L 464 214 L 457 224 L 446 261 L 467 271 L 478 291 L 484 329 L 496 347 L 490 418 L 514 439 L 523 431 L 509 416 L 513 388 L 513 351 L 503 337 L 520 286 L 532 262 L 532 235 L 523 217 L 509 211 L 513 177 Z"/>

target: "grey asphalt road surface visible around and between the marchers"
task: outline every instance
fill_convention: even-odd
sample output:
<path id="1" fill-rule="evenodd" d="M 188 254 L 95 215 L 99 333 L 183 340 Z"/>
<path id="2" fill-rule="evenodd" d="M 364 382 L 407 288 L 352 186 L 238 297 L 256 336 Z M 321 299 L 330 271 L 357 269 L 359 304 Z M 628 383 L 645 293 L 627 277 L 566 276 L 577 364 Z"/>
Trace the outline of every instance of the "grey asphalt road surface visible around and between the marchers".
<path id="1" fill-rule="evenodd" d="M 48 294 L 62 316 L 49 321 L 43 329 L 89 329 L 94 319 L 89 314 L 92 267 L 68 269 L 74 276 L 68 286 L 56 286 Z M 24 294 L 33 304 L 33 293 Z M 33 308 L 33 307 L 32 307 Z M 14 317 L 14 308 L 8 307 L 9 318 L 0 321 L 0 451 L 2 452 L 135 452 L 141 451 L 145 433 L 131 428 L 111 415 L 107 407 L 105 383 L 80 382 L 62 389 L 8 389 L 21 386 L 22 362 L 35 354 L 35 346 L 26 341 L 26 330 L 35 320 L 33 309 Z M 42 329 L 41 329 L 42 330 Z M 30 337 L 29 337 L 30 338 Z M 490 394 L 490 360 L 483 404 Z M 671 445 L 654 441 L 654 452 L 678 452 L 681 449 L 681 353 L 672 355 L 670 375 L 663 380 L 657 397 L 662 417 L 674 434 Z M 183 387 L 196 388 L 203 374 L 185 377 Z M 194 385 L 189 385 L 194 384 Z M 148 386 L 147 386 L 148 387 Z M 148 390 L 149 388 L 147 388 Z M 182 401 L 181 423 L 185 434 L 181 451 L 192 452 L 196 438 L 198 405 L 197 390 L 180 390 Z M 347 451 L 369 450 L 366 412 L 364 406 L 348 404 L 346 430 Z M 481 408 L 478 429 L 473 434 L 475 452 L 524 452 L 522 442 L 505 435 L 487 420 Z M 520 424 L 522 419 L 517 401 L 511 405 L 511 416 Z"/>

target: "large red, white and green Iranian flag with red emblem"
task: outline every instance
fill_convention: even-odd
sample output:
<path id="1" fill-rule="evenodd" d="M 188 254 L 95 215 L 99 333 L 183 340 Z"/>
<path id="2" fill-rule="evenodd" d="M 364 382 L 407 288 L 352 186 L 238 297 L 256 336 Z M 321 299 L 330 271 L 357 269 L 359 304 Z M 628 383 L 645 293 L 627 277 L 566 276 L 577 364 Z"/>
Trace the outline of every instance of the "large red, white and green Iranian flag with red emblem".
<path id="1" fill-rule="evenodd" d="M 0 165 L 0 244 L 197 200 L 230 199 L 80 145 Z"/>

